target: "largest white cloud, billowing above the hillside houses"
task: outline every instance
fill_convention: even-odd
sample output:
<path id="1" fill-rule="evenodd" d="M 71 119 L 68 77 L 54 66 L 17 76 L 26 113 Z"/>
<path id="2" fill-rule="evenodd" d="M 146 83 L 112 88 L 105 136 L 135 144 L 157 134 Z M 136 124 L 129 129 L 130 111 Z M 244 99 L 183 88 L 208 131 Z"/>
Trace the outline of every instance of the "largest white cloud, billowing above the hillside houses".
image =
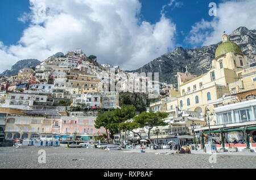
<path id="1" fill-rule="evenodd" d="M 159 22 L 140 22 L 138 0 L 30 0 L 30 25 L 16 45 L 0 43 L 0 70 L 19 59 L 43 61 L 56 52 L 81 48 L 100 63 L 134 70 L 175 46 L 176 25 L 164 14 Z"/>

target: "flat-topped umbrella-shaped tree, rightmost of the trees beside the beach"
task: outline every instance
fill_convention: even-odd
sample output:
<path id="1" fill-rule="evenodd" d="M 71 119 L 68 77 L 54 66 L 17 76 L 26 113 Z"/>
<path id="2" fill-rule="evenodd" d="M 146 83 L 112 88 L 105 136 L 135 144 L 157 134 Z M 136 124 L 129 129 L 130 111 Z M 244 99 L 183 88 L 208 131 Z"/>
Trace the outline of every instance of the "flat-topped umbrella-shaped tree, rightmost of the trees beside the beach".
<path id="1" fill-rule="evenodd" d="M 156 112 L 150 110 L 149 113 L 143 112 L 134 118 L 135 123 L 139 123 L 140 127 L 148 127 L 147 136 L 151 143 L 150 131 L 154 126 L 166 126 L 168 123 L 164 122 L 163 119 L 168 117 L 168 113 Z"/>

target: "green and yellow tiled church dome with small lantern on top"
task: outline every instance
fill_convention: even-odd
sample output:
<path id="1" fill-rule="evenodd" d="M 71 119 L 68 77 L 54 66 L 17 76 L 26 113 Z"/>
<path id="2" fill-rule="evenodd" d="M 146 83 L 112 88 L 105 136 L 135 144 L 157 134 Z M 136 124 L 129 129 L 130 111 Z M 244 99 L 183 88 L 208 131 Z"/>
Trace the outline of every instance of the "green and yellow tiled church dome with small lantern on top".
<path id="1" fill-rule="evenodd" d="M 228 35 L 223 35 L 222 41 L 223 42 L 216 49 L 215 58 L 229 52 L 243 54 L 241 48 L 236 43 L 229 41 Z"/>

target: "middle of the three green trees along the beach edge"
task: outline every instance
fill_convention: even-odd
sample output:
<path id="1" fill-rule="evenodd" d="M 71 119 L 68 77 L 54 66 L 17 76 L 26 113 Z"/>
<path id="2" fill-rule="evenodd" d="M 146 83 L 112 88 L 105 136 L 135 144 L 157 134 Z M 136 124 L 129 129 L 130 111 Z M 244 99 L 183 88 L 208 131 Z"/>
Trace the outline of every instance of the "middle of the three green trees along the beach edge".
<path id="1" fill-rule="evenodd" d="M 123 124 L 129 119 L 132 119 L 135 116 L 135 107 L 133 105 L 122 105 L 121 109 L 115 109 L 113 112 L 114 121 L 118 124 L 118 132 L 119 132 L 119 142 L 121 138 L 121 131 L 125 131 L 125 142 L 126 142 L 126 126 Z"/>

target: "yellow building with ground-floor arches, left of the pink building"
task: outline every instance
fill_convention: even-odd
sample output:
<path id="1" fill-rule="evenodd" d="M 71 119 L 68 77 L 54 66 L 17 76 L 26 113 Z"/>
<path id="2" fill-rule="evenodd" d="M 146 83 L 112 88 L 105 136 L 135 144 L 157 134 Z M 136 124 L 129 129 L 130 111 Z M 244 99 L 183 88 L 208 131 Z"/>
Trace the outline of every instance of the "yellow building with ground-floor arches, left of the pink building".
<path id="1" fill-rule="evenodd" d="M 41 134 L 51 134 L 52 119 L 43 117 L 6 117 L 7 140 L 40 139 Z"/>

